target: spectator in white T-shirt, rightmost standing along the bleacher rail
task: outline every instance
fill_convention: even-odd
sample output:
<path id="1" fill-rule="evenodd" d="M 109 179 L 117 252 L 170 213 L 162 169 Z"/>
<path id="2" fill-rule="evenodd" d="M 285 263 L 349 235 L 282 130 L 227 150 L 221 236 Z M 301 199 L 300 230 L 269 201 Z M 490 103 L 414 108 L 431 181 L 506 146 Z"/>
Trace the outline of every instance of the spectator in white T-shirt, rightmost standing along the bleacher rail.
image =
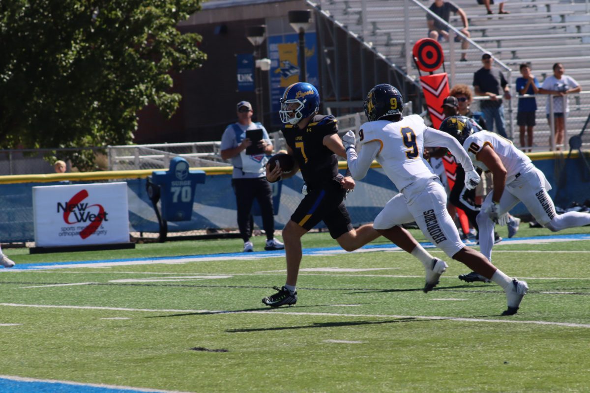
<path id="1" fill-rule="evenodd" d="M 579 93 L 582 91 L 582 87 L 576 82 L 575 79 L 565 75 L 565 68 L 561 63 L 553 64 L 553 75 L 545 78 L 543 85 L 539 89 L 540 94 L 553 95 L 553 118 L 555 120 L 555 144 L 563 144 L 563 134 L 565 130 L 565 119 L 569 113 L 569 98 L 570 93 Z M 565 99 L 563 98 L 565 97 Z M 565 101 L 565 102 L 564 102 Z M 563 108 L 565 104 L 565 108 Z M 547 114 L 547 120 L 549 121 L 549 127 L 551 124 L 549 97 L 547 98 L 547 104 L 545 107 Z M 558 147 L 557 150 L 560 150 Z"/>

